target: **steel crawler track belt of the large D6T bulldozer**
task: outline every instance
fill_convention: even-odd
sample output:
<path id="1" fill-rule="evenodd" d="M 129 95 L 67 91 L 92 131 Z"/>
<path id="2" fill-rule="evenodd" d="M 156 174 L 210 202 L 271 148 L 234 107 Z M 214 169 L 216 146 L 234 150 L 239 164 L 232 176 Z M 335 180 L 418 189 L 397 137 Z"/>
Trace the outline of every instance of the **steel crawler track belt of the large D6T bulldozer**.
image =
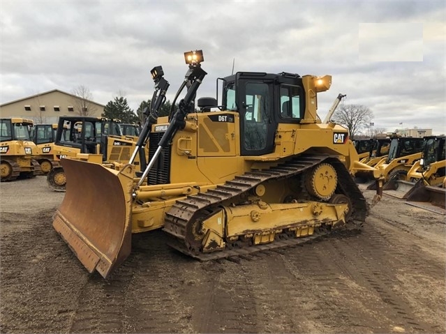
<path id="1" fill-rule="evenodd" d="M 235 179 L 227 181 L 223 185 L 218 185 L 213 190 L 208 190 L 205 193 L 199 193 L 197 195 L 190 195 L 186 197 L 186 199 L 177 201 L 165 216 L 163 230 L 172 236 L 169 245 L 195 259 L 207 261 L 211 259 L 246 255 L 261 250 L 271 250 L 274 248 L 297 245 L 328 234 L 329 229 L 322 225 L 322 227 L 315 229 L 315 234 L 304 238 L 288 238 L 286 234 L 280 234 L 276 236 L 276 241 L 273 243 L 251 245 L 242 248 L 233 248 L 230 243 L 227 243 L 224 250 L 210 253 L 191 250 L 188 247 L 188 244 L 190 243 L 188 243 L 186 237 L 188 225 L 192 224 L 200 215 L 205 215 L 211 208 L 223 203 L 225 203 L 225 205 L 234 203 L 231 202 L 232 199 L 235 200 L 235 197 L 239 197 L 239 195 L 244 192 L 248 192 L 260 183 L 265 181 L 278 181 L 280 179 L 297 176 L 321 162 L 327 162 L 334 166 L 338 176 L 336 192 L 348 196 L 352 202 L 353 212 L 347 227 L 355 228 L 362 225 L 367 214 L 366 199 L 351 178 L 343 163 L 333 155 L 300 155 L 299 157 L 285 161 L 276 167 L 262 169 L 261 171 L 246 172 L 241 176 L 235 176 Z"/>

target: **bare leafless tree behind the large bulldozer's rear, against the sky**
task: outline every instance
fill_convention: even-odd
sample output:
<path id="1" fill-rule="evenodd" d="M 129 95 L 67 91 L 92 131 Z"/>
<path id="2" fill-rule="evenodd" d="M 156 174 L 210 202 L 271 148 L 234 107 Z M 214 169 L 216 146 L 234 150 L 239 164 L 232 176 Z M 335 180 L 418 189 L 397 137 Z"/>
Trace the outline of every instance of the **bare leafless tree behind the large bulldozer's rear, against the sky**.
<path id="1" fill-rule="evenodd" d="M 345 126 L 350 132 L 350 137 L 355 137 L 357 132 L 370 126 L 373 112 L 364 105 L 340 105 L 334 112 L 333 120 Z"/>

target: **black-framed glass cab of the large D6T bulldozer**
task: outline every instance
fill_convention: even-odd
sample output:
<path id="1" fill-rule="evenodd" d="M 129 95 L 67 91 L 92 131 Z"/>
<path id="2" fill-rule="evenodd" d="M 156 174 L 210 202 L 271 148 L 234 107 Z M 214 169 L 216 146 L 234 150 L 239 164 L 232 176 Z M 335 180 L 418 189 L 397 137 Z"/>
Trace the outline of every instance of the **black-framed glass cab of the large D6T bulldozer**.
<path id="1" fill-rule="evenodd" d="M 278 123 L 299 123 L 304 116 L 302 78 L 252 72 L 225 77 L 223 109 L 239 112 L 241 155 L 272 153 Z"/>

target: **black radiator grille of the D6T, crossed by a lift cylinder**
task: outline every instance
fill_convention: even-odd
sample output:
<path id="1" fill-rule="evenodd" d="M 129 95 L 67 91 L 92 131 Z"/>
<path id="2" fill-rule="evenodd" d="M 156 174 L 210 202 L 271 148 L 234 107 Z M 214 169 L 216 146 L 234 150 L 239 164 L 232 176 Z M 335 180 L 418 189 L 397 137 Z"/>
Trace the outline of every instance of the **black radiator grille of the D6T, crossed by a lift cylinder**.
<path id="1" fill-rule="evenodd" d="M 164 132 L 151 132 L 149 136 L 149 161 L 154 156 L 158 143 L 163 137 Z M 156 160 L 154 167 L 151 168 L 147 180 L 147 184 L 167 184 L 170 183 L 170 155 L 171 146 L 161 150 L 158 160 Z"/>

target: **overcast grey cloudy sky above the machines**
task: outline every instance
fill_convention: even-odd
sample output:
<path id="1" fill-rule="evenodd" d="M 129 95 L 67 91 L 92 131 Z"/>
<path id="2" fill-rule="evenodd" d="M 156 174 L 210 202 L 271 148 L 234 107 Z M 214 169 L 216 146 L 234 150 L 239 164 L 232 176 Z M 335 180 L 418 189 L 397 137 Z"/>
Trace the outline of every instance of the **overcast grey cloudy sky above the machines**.
<path id="1" fill-rule="evenodd" d="M 163 66 L 173 100 L 184 52 L 203 50 L 198 97 L 234 71 L 332 75 L 321 119 L 339 93 L 369 107 L 375 128 L 445 133 L 445 1 L 4 1 L 0 103 L 86 86 L 106 105 L 151 98 Z M 403 123 L 402 125 L 399 125 Z"/>

